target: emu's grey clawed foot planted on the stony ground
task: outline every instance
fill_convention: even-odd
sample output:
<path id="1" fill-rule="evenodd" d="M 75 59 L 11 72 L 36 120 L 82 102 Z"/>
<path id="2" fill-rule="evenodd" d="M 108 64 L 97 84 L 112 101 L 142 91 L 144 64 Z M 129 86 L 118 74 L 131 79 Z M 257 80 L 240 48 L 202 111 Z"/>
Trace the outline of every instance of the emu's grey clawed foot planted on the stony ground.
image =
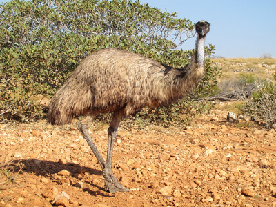
<path id="1" fill-rule="evenodd" d="M 109 173 L 105 173 L 106 171 L 109 171 Z M 110 173 L 110 170 L 103 170 L 103 177 L 105 178 L 104 181 L 104 189 L 108 191 L 109 193 L 115 193 L 115 192 L 129 192 L 130 190 L 128 188 L 125 188 L 122 186 L 117 178 L 113 175 L 112 171 Z"/>

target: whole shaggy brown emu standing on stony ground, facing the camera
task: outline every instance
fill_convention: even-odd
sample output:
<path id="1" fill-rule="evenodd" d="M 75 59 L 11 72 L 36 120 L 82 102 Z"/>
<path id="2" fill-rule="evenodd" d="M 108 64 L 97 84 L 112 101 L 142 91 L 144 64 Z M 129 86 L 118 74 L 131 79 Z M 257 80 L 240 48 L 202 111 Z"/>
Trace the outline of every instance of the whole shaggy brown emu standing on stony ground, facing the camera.
<path id="1" fill-rule="evenodd" d="M 113 175 L 112 151 L 117 129 L 123 117 L 134 115 L 148 106 L 167 106 L 186 97 L 204 75 L 204 42 L 210 24 L 195 24 L 195 56 L 184 68 L 172 68 L 132 52 L 106 48 L 83 59 L 50 101 L 48 121 L 67 124 L 83 116 L 77 129 L 99 161 L 108 192 L 127 192 Z M 108 128 L 106 161 L 88 133 L 88 124 L 100 113 L 112 112 Z"/>

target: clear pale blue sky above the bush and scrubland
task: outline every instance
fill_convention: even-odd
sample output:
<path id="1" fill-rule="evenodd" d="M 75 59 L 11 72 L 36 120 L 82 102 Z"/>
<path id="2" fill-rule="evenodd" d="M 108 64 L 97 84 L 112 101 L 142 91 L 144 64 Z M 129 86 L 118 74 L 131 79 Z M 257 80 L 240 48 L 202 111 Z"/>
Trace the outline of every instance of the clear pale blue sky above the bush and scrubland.
<path id="1" fill-rule="evenodd" d="M 134 0 L 132 0 L 134 1 Z M 275 0 L 140 0 L 163 11 L 177 12 L 179 18 L 193 23 L 202 19 L 211 23 L 206 44 L 215 45 L 222 57 L 276 57 Z M 6 0 L 0 0 L 6 2 Z M 195 38 L 182 46 L 193 49 Z"/>

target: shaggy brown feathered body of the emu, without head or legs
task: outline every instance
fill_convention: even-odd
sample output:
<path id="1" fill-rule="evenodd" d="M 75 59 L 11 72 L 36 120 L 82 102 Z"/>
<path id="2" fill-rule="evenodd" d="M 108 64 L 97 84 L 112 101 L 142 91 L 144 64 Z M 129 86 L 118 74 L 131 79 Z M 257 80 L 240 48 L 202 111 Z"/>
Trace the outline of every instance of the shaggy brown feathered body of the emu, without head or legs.
<path id="1" fill-rule="evenodd" d="M 52 98 L 48 119 L 66 124 L 89 113 L 124 108 L 128 116 L 145 106 L 166 106 L 186 96 L 203 74 L 194 60 L 179 70 L 132 52 L 99 50 L 79 64 Z"/>

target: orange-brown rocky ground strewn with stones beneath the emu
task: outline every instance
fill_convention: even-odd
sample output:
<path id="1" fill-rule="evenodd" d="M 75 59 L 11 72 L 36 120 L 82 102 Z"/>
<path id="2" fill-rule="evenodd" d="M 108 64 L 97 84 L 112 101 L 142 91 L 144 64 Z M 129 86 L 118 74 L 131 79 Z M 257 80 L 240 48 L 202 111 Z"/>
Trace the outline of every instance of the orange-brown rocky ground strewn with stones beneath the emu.
<path id="1" fill-rule="evenodd" d="M 0 206 L 276 206 L 275 130 L 226 117 L 214 111 L 182 130 L 122 126 L 113 171 L 129 193 L 103 190 L 75 124 L 0 125 Z M 107 130 L 90 133 L 106 155 Z"/>

